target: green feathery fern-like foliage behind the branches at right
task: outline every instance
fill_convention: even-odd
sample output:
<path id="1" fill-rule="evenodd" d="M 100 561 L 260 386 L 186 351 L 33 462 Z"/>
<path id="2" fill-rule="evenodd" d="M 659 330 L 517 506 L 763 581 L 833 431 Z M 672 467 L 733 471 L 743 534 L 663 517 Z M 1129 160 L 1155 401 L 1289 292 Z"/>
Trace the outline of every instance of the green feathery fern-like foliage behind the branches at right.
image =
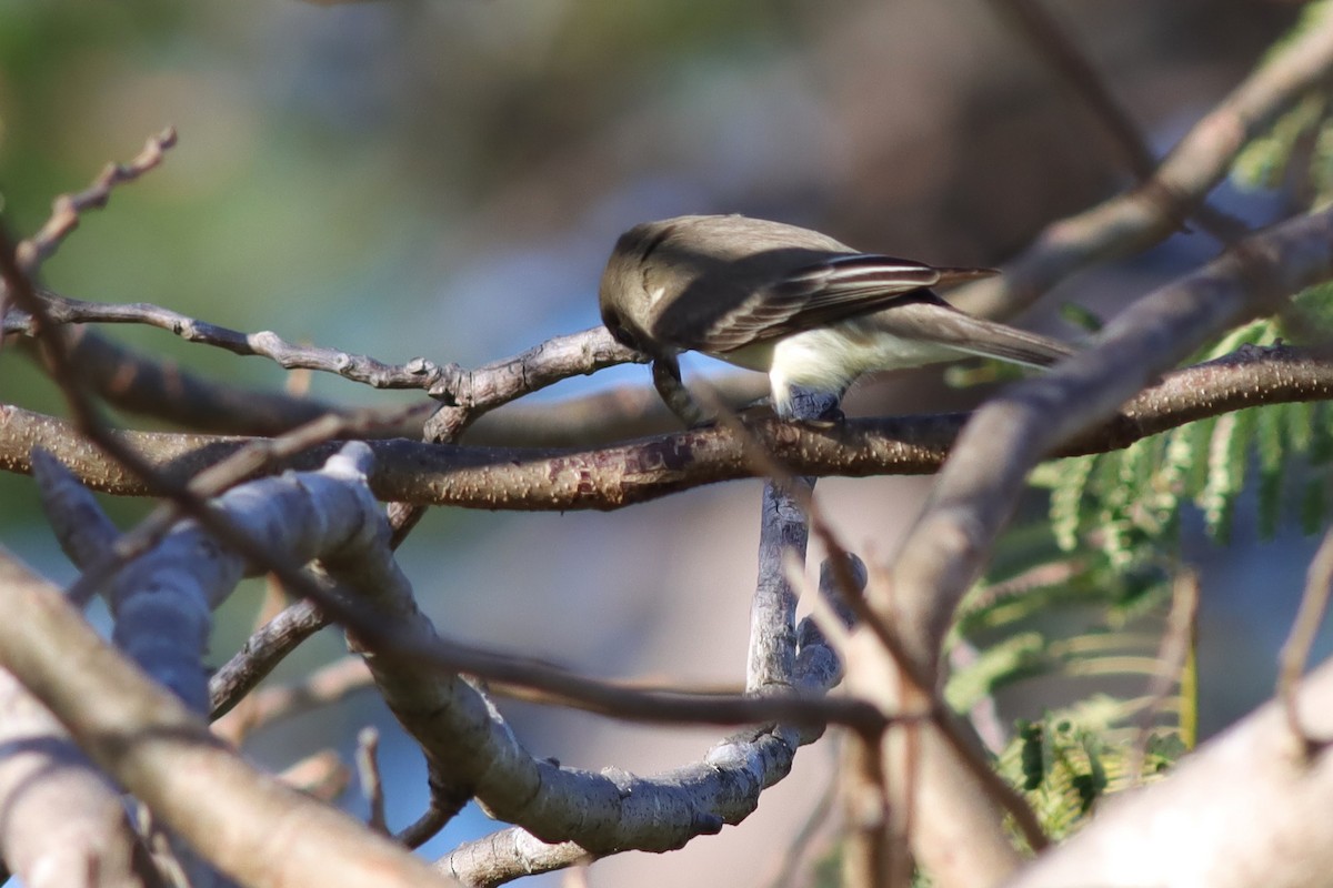
<path id="1" fill-rule="evenodd" d="M 1290 318 L 1249 324 L 1198 359 L 1277 345 L 1285 325 L 1324 325 L 1333 318 L 1333 288 L 1301 294 Z M 1078 829 L 1102 796 L 1156 779 L 1194 742 L 1193 656 L 1168 690 L 1154 686 L 1182 515 L 1193 510 L 1218 542 L 1238 513 L 1250 511 L 1265 538 L 1296 517 L 1313 533 L 1325 518 L 1330 465 L 1330 407 L 1292 403 L 1224 414 L 1034 473 L 1033 486 L 1049 494 L 1049 521 L 1014 529 L 994 575 L 964 602 L 945 694 L 957 711 L 977 714 L 997 694 L 1002 704 L 1006 691 L 1040 679 L 1046 699 L 1069 700 L 1021 722 L 998 756 L 1053 837 Z M 1246 490 L 1253 493 L 1240 510 Z M 1088 696 L 1089 676 L 1141 682 L 1144 692 Z"/>

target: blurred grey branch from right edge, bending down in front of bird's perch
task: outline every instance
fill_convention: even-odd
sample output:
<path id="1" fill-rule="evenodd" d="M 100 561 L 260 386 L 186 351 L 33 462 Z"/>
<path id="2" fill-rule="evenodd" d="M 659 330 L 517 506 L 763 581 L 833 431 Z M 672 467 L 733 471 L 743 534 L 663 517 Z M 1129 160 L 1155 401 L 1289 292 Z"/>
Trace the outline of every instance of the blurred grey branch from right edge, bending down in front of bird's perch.
<path id="1" fill-rule="evenodd" d="M 1106 326 L 1098 347 L 1013 386 L 977 411 L 940 473 L 925 514 L 902 543 L 889 584 L 893 600 L 872 596 L 880 618 L 900 628 L 914 663 L 934 674 L 953 611 L 980 572 L 1028 470 L 1114 415 L 1156 374 L 1228 325 L 1333 276 L 1330 242 L 1333 210 L 1242 241 L 1132 305 Z"/>

